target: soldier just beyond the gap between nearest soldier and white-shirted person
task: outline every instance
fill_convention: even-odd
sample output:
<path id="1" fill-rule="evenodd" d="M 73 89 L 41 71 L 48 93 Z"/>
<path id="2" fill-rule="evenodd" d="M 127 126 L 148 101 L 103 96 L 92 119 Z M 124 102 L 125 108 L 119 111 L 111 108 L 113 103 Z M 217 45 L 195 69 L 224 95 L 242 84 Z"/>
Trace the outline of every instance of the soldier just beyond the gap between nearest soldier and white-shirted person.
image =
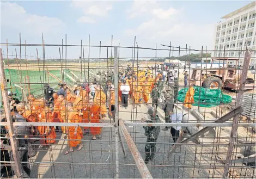
<path id="1" fill-rule="evenodd" d="M 173 111 L 173 88 L 166 87 L 166 91 L 164 91 L 164 103 L 163 103 L 163 111 L 164 111 L 164 120 L 166 123 L 170 123 L 170 115 L 169 113 Z M 167 131 L 170 127 L 164 127 L 162 131 Z"/>

